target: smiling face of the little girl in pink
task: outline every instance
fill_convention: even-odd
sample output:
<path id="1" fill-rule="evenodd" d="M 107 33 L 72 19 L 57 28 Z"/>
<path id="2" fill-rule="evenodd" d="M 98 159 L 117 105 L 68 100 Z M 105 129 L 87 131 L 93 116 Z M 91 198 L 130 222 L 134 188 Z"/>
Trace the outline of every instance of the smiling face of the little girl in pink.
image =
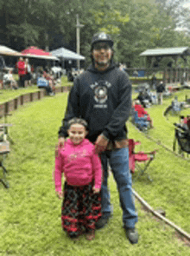
<path id="1" fill-rule="evenodd" d="M 78 145 L 85 139 L 85 135 L 87 134 L 85 127 L 79 123 L 74 123 L 67 130 L 70 140 L 73 144 Z"/>

